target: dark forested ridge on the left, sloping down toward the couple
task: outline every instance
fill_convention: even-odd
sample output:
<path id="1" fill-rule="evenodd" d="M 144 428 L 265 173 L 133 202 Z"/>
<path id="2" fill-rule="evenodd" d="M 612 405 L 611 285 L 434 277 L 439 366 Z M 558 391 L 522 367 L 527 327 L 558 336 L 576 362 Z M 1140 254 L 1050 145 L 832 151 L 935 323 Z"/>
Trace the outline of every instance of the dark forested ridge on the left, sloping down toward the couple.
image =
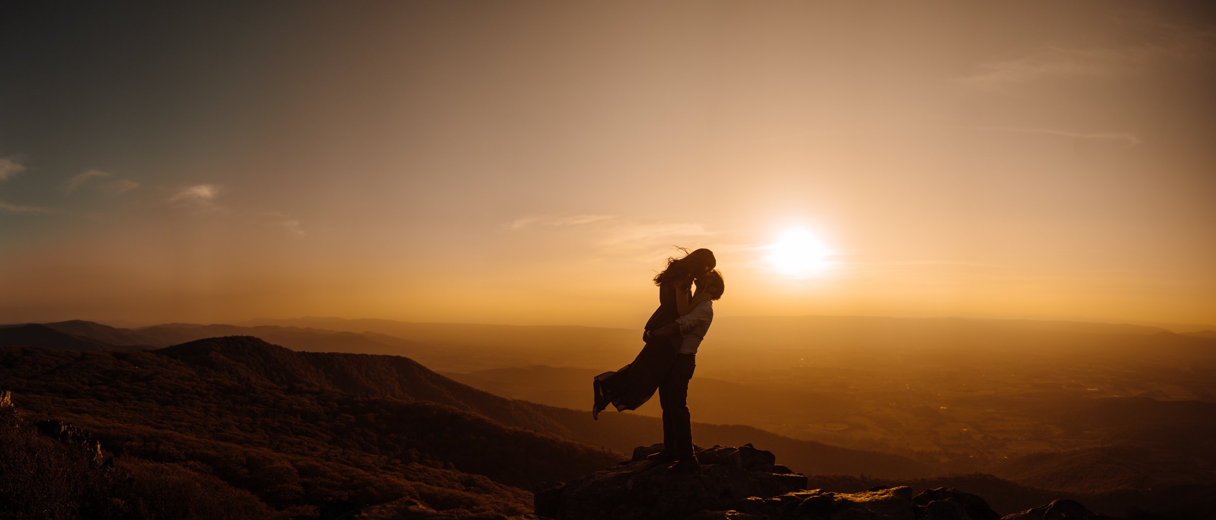
<path id="1" fill-rule="evenodd" d="M 522 513 L 531 482 L 620 457 L 434 401 L 310 386 L 319 380 L 302 363 L 285 373 L 254 362 L 299 352 L 253 340 L 168 352 L 0 347 L 0 374 L 34 418 L 79 424 L 123 457 L 188 462 L 275 508 L 413 496 L 445 509 Z M 257 350 L 241 362 L 230 357 L 250 344 Z"/>

